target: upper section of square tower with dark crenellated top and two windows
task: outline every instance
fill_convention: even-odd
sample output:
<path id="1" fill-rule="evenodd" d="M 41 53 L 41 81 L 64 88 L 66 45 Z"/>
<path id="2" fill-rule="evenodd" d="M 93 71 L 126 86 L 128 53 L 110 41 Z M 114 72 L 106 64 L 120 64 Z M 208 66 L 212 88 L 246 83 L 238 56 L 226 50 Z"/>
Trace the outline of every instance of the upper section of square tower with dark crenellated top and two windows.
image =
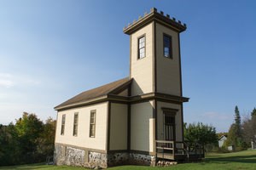
<path id="1" fill-rule="evenodd" d="M 180 20 L 156 8 L 124 28 L 130 36 L 131 96 L 160 93 L 182 97 Z"/>

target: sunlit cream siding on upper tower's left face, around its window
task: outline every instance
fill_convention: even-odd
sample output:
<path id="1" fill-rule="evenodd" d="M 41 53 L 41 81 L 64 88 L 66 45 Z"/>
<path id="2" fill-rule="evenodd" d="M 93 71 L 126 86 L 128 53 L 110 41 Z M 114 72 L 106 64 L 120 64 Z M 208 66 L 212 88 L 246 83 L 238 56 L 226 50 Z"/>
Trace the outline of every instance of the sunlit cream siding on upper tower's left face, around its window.
<path id="1" fill-rule="evenodd" d="M 153 64 L 152 64 L 152 29 L 153 24 L 143 27 L 131 35 L 131 95 L 147 94 L 153 91 Z M 137 59 L 137 38 L 145 35 L 146 57 Z"/>

